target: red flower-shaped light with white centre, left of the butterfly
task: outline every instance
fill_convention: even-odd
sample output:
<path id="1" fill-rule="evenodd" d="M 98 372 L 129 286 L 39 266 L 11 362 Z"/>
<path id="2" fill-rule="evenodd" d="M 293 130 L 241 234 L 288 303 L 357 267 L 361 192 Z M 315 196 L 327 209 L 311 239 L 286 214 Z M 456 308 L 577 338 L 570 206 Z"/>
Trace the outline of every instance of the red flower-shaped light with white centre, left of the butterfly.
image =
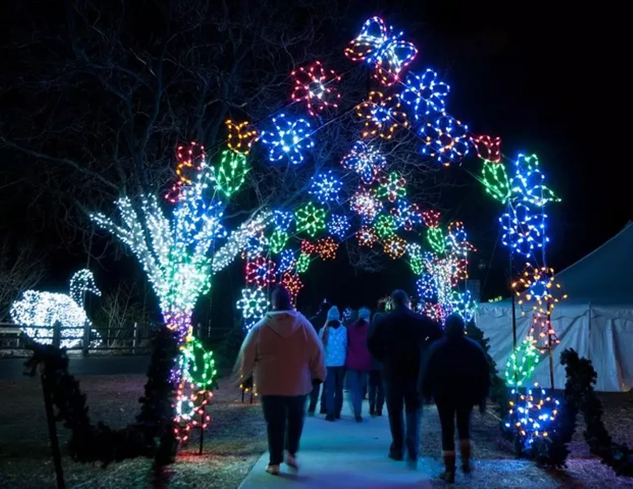
<path id="1" fill-rule="evenodd" d="M 341 94 L 337 93 L 335 82 L 340 82 L 341 77 L 334 70 L 325 70 L 320 61 L 309 68 L 292 71 L 291 77 L 294 78 L 292 100 L 305 102 L 311 116 L 320 114 L 326 107 L 338 107 Z"/>

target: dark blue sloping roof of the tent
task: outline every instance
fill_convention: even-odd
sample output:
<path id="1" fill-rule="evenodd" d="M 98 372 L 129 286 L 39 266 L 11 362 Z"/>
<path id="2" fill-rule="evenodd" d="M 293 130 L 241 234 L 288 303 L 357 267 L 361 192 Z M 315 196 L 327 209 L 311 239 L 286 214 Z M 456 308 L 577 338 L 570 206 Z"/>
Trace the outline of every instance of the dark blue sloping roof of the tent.
<path id="1" fill-rule="evenodd" d="M 633 221 L 587 256 L 556 275 L 572 300 L 633 304 Z"/>

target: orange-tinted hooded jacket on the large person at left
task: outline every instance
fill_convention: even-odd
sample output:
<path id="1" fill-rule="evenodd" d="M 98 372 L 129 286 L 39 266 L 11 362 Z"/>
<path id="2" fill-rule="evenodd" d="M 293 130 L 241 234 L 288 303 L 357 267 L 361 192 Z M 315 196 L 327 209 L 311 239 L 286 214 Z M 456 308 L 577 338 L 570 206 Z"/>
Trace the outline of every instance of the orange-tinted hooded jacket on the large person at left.
<path id="1" fill-rule="evenodd" d="M 325 380 L 323 347 L 298 311 L 272 311 L 253 326 L 242 344 L 240 373 L 254 372 L 261 395 L 305 395 L 312 379 Z"/>

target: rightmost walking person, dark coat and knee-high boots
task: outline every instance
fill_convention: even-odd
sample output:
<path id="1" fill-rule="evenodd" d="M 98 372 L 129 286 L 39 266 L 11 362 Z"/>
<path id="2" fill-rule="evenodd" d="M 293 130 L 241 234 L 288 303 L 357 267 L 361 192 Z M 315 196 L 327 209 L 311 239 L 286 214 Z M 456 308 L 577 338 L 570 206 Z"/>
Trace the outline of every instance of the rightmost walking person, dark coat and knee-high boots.
<path id="1" fill-rule="evenodd" d="M 460 316 L 446 319 L 444 337 L 431 345 L 420 372 L 420 390 L 433 397 L 442 428 L 444 472 L 440 478 L 455 480 L 455 419 L 460 438 L 461 469 L 470 472 L 468 423 L 473 405 L 484 412 L 490 388 L 490 367 L 486 353 L 477 342 L 464 335 Z"/>

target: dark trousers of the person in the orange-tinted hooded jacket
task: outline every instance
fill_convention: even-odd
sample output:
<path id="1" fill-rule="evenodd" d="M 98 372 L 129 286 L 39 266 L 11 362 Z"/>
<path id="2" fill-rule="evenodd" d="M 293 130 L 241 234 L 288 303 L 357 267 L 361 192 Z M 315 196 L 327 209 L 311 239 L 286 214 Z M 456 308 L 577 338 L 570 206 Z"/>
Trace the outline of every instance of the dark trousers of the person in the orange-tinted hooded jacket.
<path id="1" fill-rule="evenodd" d="M 263 395 L 261 407 L 266 420 L 270 465 L 284 461 L 284 449 L 291 455 L 299 450 L 299 439 L 305 419 L 305 395 Z"/>

